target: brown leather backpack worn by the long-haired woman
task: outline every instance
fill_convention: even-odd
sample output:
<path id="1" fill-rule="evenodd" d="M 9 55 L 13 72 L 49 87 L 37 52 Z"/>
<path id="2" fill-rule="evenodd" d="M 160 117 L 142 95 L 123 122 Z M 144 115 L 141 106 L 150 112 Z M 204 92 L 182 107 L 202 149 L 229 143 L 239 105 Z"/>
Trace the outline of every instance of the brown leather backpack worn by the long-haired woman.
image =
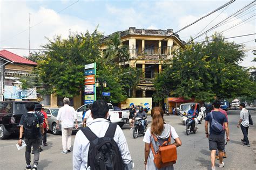
<path id="1" fill-rule="evenodd" d="M 154 141 L 158 144 L 159 149 L 157 152 L 154 152 L 153 144 L 150 144 L 152 153 L 154 155 L 154 164 L 157 168 L 163 168 L 166 166 L 170 166 L 176 164 L 177 160 L 177 149 L 175 145 L 169 144 L 171 142 L 171 135 L 168 138 L 168 141 L 164 141 L 164 143 L 160 146 L 157 137 L 152 134 Z"/>

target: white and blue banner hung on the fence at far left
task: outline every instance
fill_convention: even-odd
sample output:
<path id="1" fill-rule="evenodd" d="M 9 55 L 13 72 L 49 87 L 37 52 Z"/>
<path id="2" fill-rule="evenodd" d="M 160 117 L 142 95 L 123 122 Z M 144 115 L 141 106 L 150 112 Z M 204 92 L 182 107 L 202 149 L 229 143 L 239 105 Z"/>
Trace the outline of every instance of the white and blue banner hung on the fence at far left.
<path id="1" fill-rule="evenodd" d="M 4 98 L 37 99 L 36 88 L 22 90 L 17 86 L 4 86 Z"/>

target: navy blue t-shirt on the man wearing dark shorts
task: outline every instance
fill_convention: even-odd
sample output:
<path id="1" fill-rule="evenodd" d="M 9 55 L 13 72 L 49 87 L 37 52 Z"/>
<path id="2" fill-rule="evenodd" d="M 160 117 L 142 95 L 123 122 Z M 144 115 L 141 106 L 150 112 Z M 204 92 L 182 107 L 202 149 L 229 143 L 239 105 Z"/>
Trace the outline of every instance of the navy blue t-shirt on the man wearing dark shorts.
<path id="1" fill-rule="evenodd" d="M 219 122 L 221 125 L 224 124 L 224 122 L 227 122 L 227 118 L 224 114 L 222 114 L 220 111 L 212 111 L 212 117 L 214 118 L 215 121 Z M 212 117 L 211 114 L 208 113 L 207 116 L 205 117 L 205 121 L 209 121 L 210 122 L 210 133 L 213 134 L 224 134 L 224 130 L 223 132 L 219 133 L 219 132 L 215 132 L 212 129 Z"/>

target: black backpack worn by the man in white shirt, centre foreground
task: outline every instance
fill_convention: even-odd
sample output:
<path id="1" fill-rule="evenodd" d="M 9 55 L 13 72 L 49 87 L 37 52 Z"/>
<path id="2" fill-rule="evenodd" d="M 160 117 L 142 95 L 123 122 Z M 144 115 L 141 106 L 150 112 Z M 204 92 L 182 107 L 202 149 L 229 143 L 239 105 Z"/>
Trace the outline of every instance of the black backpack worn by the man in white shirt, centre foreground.
<path id="1" fill-rule="evenodd" d="M 90 166 L 91 170 L 125 169 L 121 153 L 116 141 L 113 139 L 116 128 L 116 123 L 110 123 L 105 136 L 102 138 L 98 138 L 88 127 L 81 129 L 86 138 L 90 141 L 87 167 Z"/>

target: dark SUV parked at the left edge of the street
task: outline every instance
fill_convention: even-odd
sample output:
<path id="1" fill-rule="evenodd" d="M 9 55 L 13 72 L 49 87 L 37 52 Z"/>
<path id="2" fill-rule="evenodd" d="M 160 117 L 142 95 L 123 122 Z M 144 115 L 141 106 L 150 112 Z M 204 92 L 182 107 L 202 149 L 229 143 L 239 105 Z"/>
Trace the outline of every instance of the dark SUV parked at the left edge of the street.
<path id="1" fill-rule="evenodd" d="M 26 110 L 27 101 L 0 102 L 0 139 L 6 139 L 11 133 L 19 132 L 19 121 Z M 33 102 L 39 104 L 38 102 Z"/>

